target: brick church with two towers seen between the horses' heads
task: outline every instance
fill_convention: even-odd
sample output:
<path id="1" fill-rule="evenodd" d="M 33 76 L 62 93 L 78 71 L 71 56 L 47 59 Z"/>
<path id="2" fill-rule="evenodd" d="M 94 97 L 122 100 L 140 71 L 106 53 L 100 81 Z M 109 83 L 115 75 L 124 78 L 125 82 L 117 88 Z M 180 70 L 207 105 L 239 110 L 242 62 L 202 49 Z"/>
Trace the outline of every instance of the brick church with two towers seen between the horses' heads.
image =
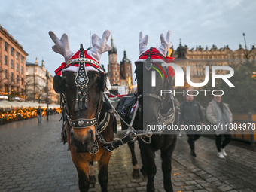
<path id="1" fill-rule="evenodd" d="M 108 78 L 111 86 L 123 86 L 126 93 L 130 93 L 133 85 L 132 63 L 126 56 L 126 51 L 123 52 L 123 59 L 118 63 L 117 48 L 114 46 L 113 38 L 111 38 L 112 49 L 108 51 Z"/>

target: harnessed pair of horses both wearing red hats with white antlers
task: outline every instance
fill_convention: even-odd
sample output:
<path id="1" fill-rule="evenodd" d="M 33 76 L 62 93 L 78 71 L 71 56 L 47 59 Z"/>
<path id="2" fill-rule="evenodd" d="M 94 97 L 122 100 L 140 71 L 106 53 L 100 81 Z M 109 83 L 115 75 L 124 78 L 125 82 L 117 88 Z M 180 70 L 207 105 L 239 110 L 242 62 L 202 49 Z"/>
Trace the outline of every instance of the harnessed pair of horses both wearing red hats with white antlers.
<path id="1" fill-rule="evenodd" d="M 121 139 L 114 140 L 116 132 L 115 115 L 117 113 L 105 90 L 105 73 L 99 63 L 101 54 L 111 50 L 107 44 L 110 32 L 106 30 L 102 38 L 98 35 L 92 36 L 93 47 L 84 50 L 81 45 L 78 52 L 73 53 L 69 49 L 68 35 L 63 34 L 57 38 L 53 32 L 49 32 L 55 45 L 53 50 L 62 54 L 65 62 L 56 69 L 56 76 L 53 78 L 53 87 L 56 93 L 61 94 L 62 136 L 64 142 L 69 143 L 72 160 L 78 172 L 79 189 L 88 191 L 90 186 L 90 165 L 98 161 L 99 184 L 102 191 L 108 191 L 108 163 L 111 151 L 128 142 L 132 155 L 133 165 L 136 173 L 133 177 L 139 176 L 134 155 L 134 141 L 139 140 L 139 147 L 142 155 L 142 172 L 148 176 L 147 190 L 154 191 L 154 175 L 156 165 L 154 153 L 161 151 L 163 184 L 166 191 L 172 191 L 171 170 L 172 152 L 175 148 L 176 134 L 165 134 L 163 130 L 147 130 L 145 124 L 175 123 L 175 104 L 172 94 L 160 96 L 160 90 L 172 90 L 172 75 L 168 68 L 161 67 L 161 63 L 168 62 L 166 52 L 171 47 L 167 35 L 160 35 L 161 45 L 158 48 L 147 48 L 148 35 L 143 37 L 140 33 L 139 50 L 140 57 L 136 61 L 136 78 L 138 91 L 136 94 L 125 96 L 120 99 L 117 108 L 120 114 L 126 106 L 126 120 L 121 120 L 125 135 Z M 162 83 L 157 87 L 151 86 L 151 71 L 160 66 L 161 73 L 166 79 L 160 79 Z M 159 77 L 160 77 L 159 76 Z M 156 78 L 156 76 L 154 76 Z M 130 105 L 122 105 L 127 101 Z M 127 113 L 128 108 L 128 113 Z M 121 118 L 122 119 L 122 118 Z M 126 129 L 127 128 L 127 129 Z"/>

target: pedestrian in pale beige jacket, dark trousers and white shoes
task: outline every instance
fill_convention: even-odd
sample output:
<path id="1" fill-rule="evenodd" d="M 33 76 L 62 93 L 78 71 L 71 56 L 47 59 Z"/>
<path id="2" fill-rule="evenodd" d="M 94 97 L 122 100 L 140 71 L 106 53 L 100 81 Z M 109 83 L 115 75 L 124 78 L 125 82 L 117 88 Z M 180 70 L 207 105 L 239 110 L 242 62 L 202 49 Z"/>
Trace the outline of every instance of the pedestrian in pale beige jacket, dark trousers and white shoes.
<path id="1" fill-rule="evenodd" d="M 206 117 L 210 123 L 219 127 L 218 130 L 215 130 L 215 144 L 218 150 L 217 156 L 224 159 L 227 157 L 224 148 L 231 141 L 231 135 L 228 128 L 229 124 L 232 123 L 233 115 L 228 105 L 221 99 L 221 96 L 214 96 L 212 102 L 209 102 L 209 105 L 206 108 Z M 222 135 L 224 135 L 223 142 Z"/>

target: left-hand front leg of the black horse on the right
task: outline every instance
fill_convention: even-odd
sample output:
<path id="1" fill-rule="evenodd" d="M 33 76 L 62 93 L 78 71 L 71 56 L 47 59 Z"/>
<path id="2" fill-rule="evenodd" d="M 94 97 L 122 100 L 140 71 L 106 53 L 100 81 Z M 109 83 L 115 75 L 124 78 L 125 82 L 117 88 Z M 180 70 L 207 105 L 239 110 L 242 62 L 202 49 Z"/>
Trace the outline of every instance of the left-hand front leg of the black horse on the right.
<path id="1" fill-rule="evenodd" d="M 154 175 L 157 173 L 157 166 L 154 162 L 154 150 L 142 141 L 139 141 L 142 155 L 143 169 L 148 176 L 147 192 L 154 192 Z"/>

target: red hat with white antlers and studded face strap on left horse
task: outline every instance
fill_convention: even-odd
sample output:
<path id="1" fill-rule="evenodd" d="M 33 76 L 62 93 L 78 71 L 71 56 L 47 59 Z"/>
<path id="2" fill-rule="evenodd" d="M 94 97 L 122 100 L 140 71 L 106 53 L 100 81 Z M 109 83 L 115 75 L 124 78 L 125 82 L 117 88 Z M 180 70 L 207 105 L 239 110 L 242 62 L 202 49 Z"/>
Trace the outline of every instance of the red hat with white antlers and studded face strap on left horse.
<path id="1" fill-rule="evenodd" d="M 84 47 L 81 44 L 80 50 L 78 50 L 77 53 L 73 53 L 72 50 L 70 50 L 69 37 L 65 33 L 60 39 L 54 34 L 54 32 L 50 31 L 49 35 L 55 43 L 55 45 L 53 46 L 53 51 L 61 54 L 65 58 L 65 62 L 62 63 L 62 66 L 56 69 L 56 75 L 61 75 L 61 73 L 65 71 L 77 72 L 75 76 L 75 111 L 83 109 L 83 106 L 85 108 L 89 108 L 87 104 L 87 84 L 89 82 L 87 71 L 102 72 L 102 77 L 104 80 L 104 82 L 102 83 L 102 91 L 104 91 L 105 74 L 103 73 L 102 66 L 99 64 L 99 60 L 102 56 L 102 53 L 111 50 L 111 46 L 107 44 L 108 38 L 110 36 L 110 31 L 105 30 L 102 38 L 99 38 L 98 35 L 93 34 L 93 47 L 87 51 L 84 50 Z"/>

